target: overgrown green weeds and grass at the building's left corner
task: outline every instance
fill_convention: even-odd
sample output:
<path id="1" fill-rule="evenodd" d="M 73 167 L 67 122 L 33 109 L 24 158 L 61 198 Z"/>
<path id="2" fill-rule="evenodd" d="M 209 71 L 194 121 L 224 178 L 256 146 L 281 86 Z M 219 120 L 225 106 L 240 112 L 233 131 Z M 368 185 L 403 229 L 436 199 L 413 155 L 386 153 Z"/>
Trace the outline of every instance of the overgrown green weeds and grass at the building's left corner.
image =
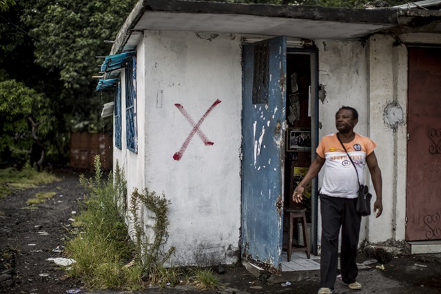
<path id="1" fill-rule="evenodd" d="M 185 270 L 164 264 L 174 253 L 174 247 L 163 251 L 167 242 L 168 206 L 165 195 L 134 190 L 128 212 L 134 242 L 127 235 L 123 214 L 127 212 L 127 184 L 124 173 L 116 163 L 115 175 L 103 180 L 99 156 L 94 160 L 94 178 L 80 182 L 88 195 L 84 210 L 74 222 L 81 233 L 65 244 L 70 258 L 76 262 L 68 275 L 82 280 L 88 288 L 119 288 L 139 290 L 147 285 L 174 286 L 193 284 L 201 290 L 220 287 L 213 273 L 207 269 Z M 150 211 L 152 224 L 145 224 L 140 207 Z M 149 222 L 150 223 L 150 222 Z M 145 234 L 150 229 L 152 237 Z"/>

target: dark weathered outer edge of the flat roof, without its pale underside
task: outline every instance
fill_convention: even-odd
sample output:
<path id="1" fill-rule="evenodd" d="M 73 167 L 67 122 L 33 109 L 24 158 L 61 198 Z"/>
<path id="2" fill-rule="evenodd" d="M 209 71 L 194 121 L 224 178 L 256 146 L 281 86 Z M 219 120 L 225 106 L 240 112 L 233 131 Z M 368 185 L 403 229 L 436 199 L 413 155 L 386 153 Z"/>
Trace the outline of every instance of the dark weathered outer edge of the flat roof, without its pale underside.
<path id="1" fill-rule="evenodd" d="M 146 11 L 170 13 L 242 14 L 256 17 L 283 17 L 338 21 L 342 23 L 373 23 L 398 26 L 400 17 L 441 16 L 439 10 L 402 10 L 378 8 L 372 10 L 352 8 L 324 8 L 320 6 L 280 6 L 271 4 L 240 4 L 182 0 L 139 0 L 116 35 L 111 54 L 124 51 L 124 46 L 132 36 L 132 29 Z"/>

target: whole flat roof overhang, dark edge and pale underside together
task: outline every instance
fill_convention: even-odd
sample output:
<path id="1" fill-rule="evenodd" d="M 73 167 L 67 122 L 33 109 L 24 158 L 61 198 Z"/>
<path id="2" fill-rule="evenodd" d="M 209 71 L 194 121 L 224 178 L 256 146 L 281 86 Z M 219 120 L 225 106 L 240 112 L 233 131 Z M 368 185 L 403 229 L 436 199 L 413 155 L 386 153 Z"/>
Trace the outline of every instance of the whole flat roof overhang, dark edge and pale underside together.
<path id="1" fill-rule="evenodd" d="M 143 30 L 263 35 L 299 39 L 358 39 L 427 20 L 441 12 L 350 9 L 182 0 L 139 0 L 116 37 L 112 54 L 133 50 Z M 400 21 L 404 17 L 404 21 Z M 423 21 L 424 22 L 424 21 Z"/>

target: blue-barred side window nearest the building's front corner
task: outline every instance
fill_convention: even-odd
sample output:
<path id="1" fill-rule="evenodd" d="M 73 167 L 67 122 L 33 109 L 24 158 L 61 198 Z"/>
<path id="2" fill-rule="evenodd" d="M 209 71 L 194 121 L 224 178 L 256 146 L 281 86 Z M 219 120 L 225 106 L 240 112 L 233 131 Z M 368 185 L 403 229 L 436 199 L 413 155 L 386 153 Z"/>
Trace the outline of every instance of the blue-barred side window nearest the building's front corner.
<path id="1" fill-rule="evenodd" d="M 138 152 L 136 133 L 136 57 L 125 67 L 125 124 L 127 149 Z"/>

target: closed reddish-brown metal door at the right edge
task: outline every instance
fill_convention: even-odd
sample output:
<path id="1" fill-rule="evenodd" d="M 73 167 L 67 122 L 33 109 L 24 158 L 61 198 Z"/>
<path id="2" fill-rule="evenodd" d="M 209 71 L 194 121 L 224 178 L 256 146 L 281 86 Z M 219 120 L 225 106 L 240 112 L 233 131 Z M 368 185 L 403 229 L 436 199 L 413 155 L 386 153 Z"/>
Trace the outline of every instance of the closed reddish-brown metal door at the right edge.
<path id="1" fill-rule="evenodd" d="M 441 48 L 408 52 L 406 240 L 441 239 Z"/>

